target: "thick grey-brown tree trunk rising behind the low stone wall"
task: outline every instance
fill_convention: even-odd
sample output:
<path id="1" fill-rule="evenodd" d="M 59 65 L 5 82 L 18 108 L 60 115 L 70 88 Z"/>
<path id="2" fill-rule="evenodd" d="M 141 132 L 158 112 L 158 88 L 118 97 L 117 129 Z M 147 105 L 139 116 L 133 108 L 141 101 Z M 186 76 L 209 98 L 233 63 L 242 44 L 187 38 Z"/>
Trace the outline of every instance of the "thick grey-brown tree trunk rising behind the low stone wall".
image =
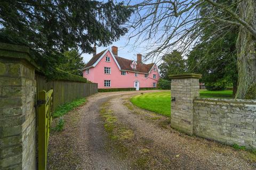
<path id="1" fill-rule="evenodd" d="M 256 1 L 245 0 L 239 3 L 241 18 L 256 29 Z M 256 37 L 246 28 L 239 28 L 236 42 L 238 87 L 236 98 L 243 99 L 248 88 L 256 82 Z"/>

